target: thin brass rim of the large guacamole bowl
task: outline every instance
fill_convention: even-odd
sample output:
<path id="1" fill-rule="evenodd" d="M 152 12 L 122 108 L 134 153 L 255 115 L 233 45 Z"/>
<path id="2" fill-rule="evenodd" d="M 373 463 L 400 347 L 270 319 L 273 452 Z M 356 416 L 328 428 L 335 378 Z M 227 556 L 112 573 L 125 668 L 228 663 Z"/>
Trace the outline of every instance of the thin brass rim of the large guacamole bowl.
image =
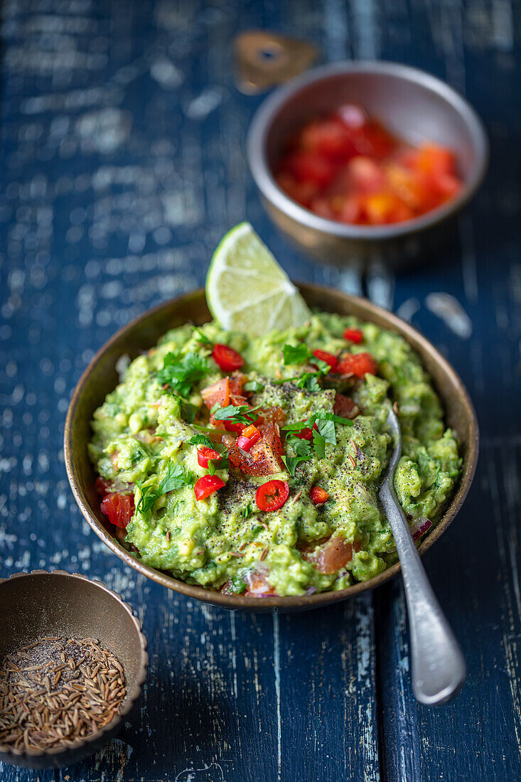
<path id="1" fill-rule="evenodd" d="M 299 285 L 298 283 L 296 284 Z M 301 290 L 303 290 L 304 296 L 305 296 L 306 289 L 310 292 L 322 293 L 322 295 L 326 295 L 328 292 L 333 292 L 335 294 L 338 294 L 338 291 L 329 289 L 325 285 L 313 285 L 313 284 L 303 283 L 300 284 L 299 287 Z M 81 483 L 76 475 L 76 472 L 74 471 L 74 454 L 72 448 L 74 414 L 76 411 L 78 401 L 80 400 L 81 395 L 84 391 L 84 388 L 85 386 L 88 385 L 88 380 L 92 373 L 92 370 L 95 367 L 95 364 L 97 364 L 97 362 L 101 360 L 101 358 L 106 353 L 106 351 L 110 350 L 111 346 L 113 346 L 114 343 L 117 343 L 117 341 L 127 332 L 138 327 L 138 325 L 141 325 L 143 321 L 146 321 L 149 317 L 152 317 L 154 314 L 159 313 L 160 310 L 163 310 L 164 308 L 167 307 L 171 307 L 171 304 L 174 301 L 181 302 L 181 300 L 190 300 L 190 299 L 195 301 L 203 296 L 204 296 L 204 289 L 198 289 L 196 291 L 189 292 L 184 296 L 178 296 L 174 300 L 163 302 L 157 305 L 156 307 L 147 310 L 146 313 L 136 317 L 133 321 L 125 325 L 123 328 L 120 328 L 105 343 L 105 345 L 103 345 L 99 349 L 99 351 L 92 358 L 90 364 L 88 364 L 88 367 L 84 369 L 84 372 L 77 383 L 76 389 L 74 390 L 72 399 L 70 400 L 69 410 L 67 411 L 65 432 L 64 432 L 64 455 L 65 455 L 66 472 L 70 482 L 70 487 L 74 493 L 74 498 L 76 499 L 77 504 L 79 505 L 81 512 L 84 515 L 84 518 L 87 520 L 88 524 L 92 527 L 96 535 L 99 536 L 99 538 L 104 543 L 106 543 L 106 545 L 110 548 L 111 551 L 113 551 L 114 554 L 117 554 L 117 556 L 120 559 L 124 560 L 127 563 L 127 565 L 130 565 L 132 568 L 137 570 L 143 576 L 152 579 L 156 583 L 160 583 L 163 587 L 167 587 L 168 589 L 174 590 L 175 592 L 184 594 L 186 597 L 190 597 L 192 599 L 200 600 L 214 605 L 221 605 L 224 606 L 225 608 L 246 610 L 252 612 L 267 612 L 267 611 L 278 612 L 279 610 L 291 611 L 291 610 L 303 610 L 307 608 L 318 608 L 323 604 L 332 604 L 332 603 L 340 602 L 346 600 L 347 597 L 353 597 L 354 595 L 360 594 L 361 592 L 371 590 L 374 587 L 378 587 L 380 584 L 393 578 L 393 576 L 396 576 L 397 573 L 400 572 L 399 562 L 397 562 L 395 565 L 392 565 L 390 568 L 384 570 L 383 572 L 379 573 L 378 576 L 373 576 L 372 579 L 369 579 L 368 581 L 365 582 L 355 583 L 353 586 L 347 587 L 347 589 L 345 590 L 339 590 L 339 591 L 330 590 L 328 592 L 319 592 L 317 594 L 294 596 L 294 597 L 291 596 L 291 597 L 258 598 L 258 597 L 243 597 L 242 595 L 233 595 L 233 594 L 232 595 L 221 594 L 221 592 L 217 592 L 214 590 L 207 590 L 204 587 L 196 587 L 191 584 L 187 584 L 184 581 L 181 581 L 181 579 L 176 579 L 174 578 L 174 576 L 168 575 L 166 572 L 156 570 L 150 567 L 149 565 L 143 564 L 141 561 L 139 561 L 134 556 L 132 556 L 132 554 L 129 551 L 127 551 L 123 546 L 121 546 L 120 543 L 118 543 L 117 540 L 115 540 L 113 536 L 110 535 L 110 533 L 105 529 L 105 527 L 102 526 L 98 518 L 96 518 L 95 514 L 92 512 L 92 508 L 90 504 L 88 503 L 87 497 L 84 494 Z M 342 296 L 347 300 L 348 303 L 350 301 L 360 300 L 360 297 L 350 296 L 349 294 L 343 292 L 342 292 Z M 407 336 L 414 337 L 414 339 L 418 340 L 419 343 L 422 343 L 422 345 L 425 346 L 427 350 L 429 350 L 429 352 L 433 355 L 433 357 L 435 357 L 437 363 L 443 368 L 444 373 L 446 375 L 451 375 L 451 378 L 455 383 L 455 386 L 458 387 L 458 393 L 462 398 L 466 410 L 467 418 L 469 421 L 469 443 L 468 443 L 469 452 L 467 456 L 466 471 L 464 471 L 462 474 L 462 480 L 457 490 L 455 491 L 454 496 L 451 499 L 451 503 L 449 504 L 447 511 L 445 511 L 442 518 L 440 518 L 440 521 L 437 523 L 437 526 L 434 527 L 432 533 L 430 533 L 426 537 L 426 540 L 424 540 L 424 542 L 421 543 L 421 545 L 419 546 L 418 548 L 419 554 L 423 554 L 425 551 L 427 551 L 427 549 L 430 546 L 432 546 L 432 544 L 441 536 L 441 534 L 444 533 L 445 529 L 447 529 L 449 524 L 455 518 L 455 515 L 458 513 L 459 509 L 462 507 L 465 497 L 469 492 L 469 488 L 471 486 L 472 479 L 476 471 L 476 463 L 477 463 L 478 448 L 479 448 L 479 429 L 478 429 L 478 422 L 476 418 L 476 412 L 474 411 L 474 407 L 472 405 L 472 401 L 469 398 L 469 394 L 467 393 L 467 390 L 465 389 L 465 386 L 463 385 L 463 382 L 461 378 L 459 378 L 457 372 L 451 367 L 451 364 L 448 363 L 448 361 L 433 346 L 433 344 L 430 343 L 428 339 L 426 339 L 425 336 L 423 336 L 413 326 L 409 325 L 408 323 L 405 323 L 405 321 L 402 321 L 396 315 L 393 315 L 392 313 L 383 310 L 382 307 L 378 307 L 378 305 L 373 304 L 372 302 L 366 299 L 362 299 L 362 301 L 364 302 L 364 306 L 369 310 L 370 314 L 378 314 L 380 317 L 382 316 L 384 317 L 384 319 L 386 320 L 386 328 L 391 328 L 394 329 L 395 331 L 398 331 L 399 333 L 401 333 L 401 335 L 404 335 L 405 338 L 407 338 Z M 368 317 L 368 321 L 370 321 L 370 317 Z"/>

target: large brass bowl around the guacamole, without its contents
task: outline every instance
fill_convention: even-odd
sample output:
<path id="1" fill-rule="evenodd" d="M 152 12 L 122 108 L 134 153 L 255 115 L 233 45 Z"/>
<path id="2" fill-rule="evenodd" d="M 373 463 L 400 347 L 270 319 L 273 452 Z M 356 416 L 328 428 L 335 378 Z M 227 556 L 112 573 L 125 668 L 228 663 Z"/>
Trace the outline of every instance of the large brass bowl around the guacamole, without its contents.
<path id="1" fill-rule="evenodd" d="M 433 378 L 437 393 L 440 394 L 444 402 L 447 425 L 458 432 L 462 444 L 463 469 L 458 490 L 446 513 L 419 547 L 420 554 L 423 554 L 444 533 L 459 508 L 462 507 L 476 468 L 478 426 L 476 414 L 465 386 L 436 348 L 415 328 L 404 323 L 395 315 L 376 307 L 375 304 L 365 299 L 348 296 L 346 293 L 320 285 L 299 285 L 299 289 L 311 307 L 340 314 L 356 315 L 363 321 L 372 321 L 376 325 L 400 333 L 422 357 L 423 364 Z M 106 521 L 106 517 L 99 510 L 99 495 L 94 488 L 96 476 L 87 451 L 87 443 L 92 436 L 89 422 L 92 420 L 96 407 L 102 404 L 106 394 L 117 386 L 118 376 L 115 366 L 120 356 L 127 353 L 131 358 L 135 358 L 143 351 L 156 345 L 160 336 L 168 329 L 182 325 L 187 321 L 201 324 L 208 320 L 210 320 L 210 312 L 203 290 L 194 291 L 179 299 L 160 304 L 159 307 L 149 310 L 146 314 L 121 328 L 96 353 L 81 376 L 66 418 L 65 464 L 74 497 L 92 529 L 114 554 L 117 554 L 144 576 L 148 576 L 156 583 L 163 584 L 163 587 L 181 592 L 187 597 L 215 605 L 223 605 L 225 608 L 239 608 L 256 612 L 298 611 L 317 608 L 365 592 L 395 576 L 400 570 L 398 564 L 365 583 L 357 583 L 353 587 L 338 592 L 322 592 L 303 597 L 243 597 L 221 594 L 203 587 L 194 587 L 174 578 L 167 572 L 144 565 L 115 540 L 110 533 L 110 525 Z"/>

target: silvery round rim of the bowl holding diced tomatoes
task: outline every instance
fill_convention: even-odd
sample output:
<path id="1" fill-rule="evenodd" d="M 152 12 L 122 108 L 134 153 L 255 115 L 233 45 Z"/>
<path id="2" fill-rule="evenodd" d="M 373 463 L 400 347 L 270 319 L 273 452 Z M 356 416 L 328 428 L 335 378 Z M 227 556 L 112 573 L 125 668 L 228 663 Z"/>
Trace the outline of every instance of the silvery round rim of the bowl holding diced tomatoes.
<path id="1" fill-rule="evenodd" d="M 264 149 L 264 141 L 271 128 L 271 122 L 275 113 L 288 99 L 292 98 L 300 89 L 307 87 L 308 84 L 313 84 L 332 76 L 349 76 L 354 73 L 390 74 L 401 78 L 403 81 L 421 84 L 429 91 L 437 93 L 462 117 L 472 138 L 474 160 L 472 170 L 465 179 L 465 186 L 457 198 L 451 199 L 446 204 L 438 206 L 437 209 L 430 210 L 424 215 L 414 217 L 412 220 L 391 225 L 368 227 L 340 223 L 339 221 L 329 220 L 326 217 L 319 217 L 318 214 L 305 209 L 304 206 L 300 206 L 296 201 L 293 201 L 293 199 L 289 198 L 289 195 L 286 195 L 278 187 L 266 161 Z M 417 231 L 432 228 L 461 210 L 465 203 L 468 203 L 476 193 L 483 181 L 488 165 L 489 145 L 483 123 L 476 111 L 472 109 L 472 106 L 462 95 L 444 81 L 432 74 L 428 74 L 425 70 L 401 63 L 392 63 L 385 60 L 361 60 L 358 62 L 346 60 L 340 63 L 329 63 L 312 68 L 290 81 L 289 84 L 282 85 L 282 87 L 276 89 L 272 95 L 265 99 L 253 116 L 246 140 L 246 153 L 251 174 L 260 192 L 269 203 L 286 214 L 287 217 L 304 225 L 306 228 L 322 231 L 322 233 L 333 235 L 339 239 L 361 239 L 371 242 L 373 240 L 381 241 L 383 239 L 407 236 Z"/>

